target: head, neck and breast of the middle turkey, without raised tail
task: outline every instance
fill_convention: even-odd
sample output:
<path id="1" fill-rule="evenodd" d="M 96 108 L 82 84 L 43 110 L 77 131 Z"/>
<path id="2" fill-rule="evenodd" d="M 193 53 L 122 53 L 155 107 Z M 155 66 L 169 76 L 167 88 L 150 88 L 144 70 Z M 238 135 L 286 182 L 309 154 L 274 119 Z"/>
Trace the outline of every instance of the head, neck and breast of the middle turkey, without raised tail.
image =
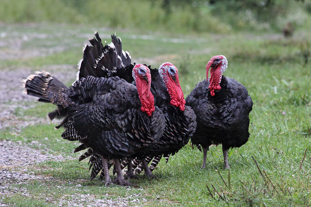
<path id="1" fill-rule="evenodd" d="M 177 84 L 179 87 L 172 83 Z M 154 158 L 152 155 L 146 157 L 147 163 L 153 158 L 149 166 L 152 172 L 162 155 L 166 157 L 167 162 L 170 154 L 174 155 L 188 143 L 195 132 L 197 122 L 192 108 L 184 106 L 185 101 L 179 84 L 178 70 L 175 65 L 167 62 L 160 65 L 159 70 L 151 69 L 151 92 L 155 97 L 155 105 L 162 110 L 165 116 L 163 137 L 161 142 L 158 143 L 159 154 L 154 155 Z M 135 166 L 137 163 L 137 160 L 133 160 L 132 164 Z M 134 175 L 139 174 L 143 169 L 143 164 L 139 164 L 134 169 Z"/>

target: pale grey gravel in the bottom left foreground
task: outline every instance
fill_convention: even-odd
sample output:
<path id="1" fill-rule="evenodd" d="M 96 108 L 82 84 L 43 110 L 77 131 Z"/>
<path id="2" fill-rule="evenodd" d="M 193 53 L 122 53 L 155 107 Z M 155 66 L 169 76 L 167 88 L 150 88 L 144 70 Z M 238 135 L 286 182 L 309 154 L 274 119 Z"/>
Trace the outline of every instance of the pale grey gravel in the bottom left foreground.
<path id="1" fill-rule="evenodd" d="M 38 145 L 38 142 L 33 141 L 30 145 Z M 22 142 L 12 142 L 7 140 L 0 141 L 0 206 L 7 206 L 2 204 L 1 199 L 4 196 L 20 195 L 24 197 L 31 197 L 31 192 L 15 185 L 29 184 L 33 180 L 53 180 L 52 176 L 40 176 L 35 174 L 35 164 L 46 160 L 53 159 L 53 161 L 61 161 L 65 159 L 74 159 L 70 156 L 64 157 L 63 155 L 55 156 L 51 154 L 48 149 L 38 150 L 22 145 Z M 80 182 L 77 180 L 77 182 Z M 70 184 L 70 183 L 69 183 Z M 57 185 L 57 184 L 56 184 Z M 71 191 L 76 191 L 81 188 L 81 184 L 73 187 L 60 187 L 62 189 L 70 188 Z M 102 188 L 102 187 L 99 187 Z M 104 188 L 104 187 L 103 187 Z M 127 188 L 131 190 L 131 187 Z M 143 191 L 143 189 L 139 189 Z M 42 195 L 44 196 L 44 195 Z M 111 195 L 105 194 L 100 198 L 88 194 L 75 193 L 74 195 L 64 195 L 59 200 L 51 197 L 46 197 L 46 202 L 58 204 L 60 206 L 128 206 L 142 205 L 147 200 L 143 198 L 142 194 L 132 194 L 126 198 L 117 197 L 111 198 Z"/>

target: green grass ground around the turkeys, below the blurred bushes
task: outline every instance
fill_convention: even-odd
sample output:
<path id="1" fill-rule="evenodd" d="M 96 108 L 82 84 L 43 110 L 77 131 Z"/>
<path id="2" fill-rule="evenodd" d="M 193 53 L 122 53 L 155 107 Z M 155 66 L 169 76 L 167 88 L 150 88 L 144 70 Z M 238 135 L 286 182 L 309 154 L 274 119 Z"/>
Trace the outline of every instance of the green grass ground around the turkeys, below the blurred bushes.
<path id="1" fill-rule="evenodd" d="M 23 25 L 13 25 L 23 31 Z M 67 29 L 67 28 L 70 29 Z M 54 28 L 54 29 L 53 29 Z M 57 28 L 58 31 L 54 31 Z M 2 28 L 4 29 L 4 28 Z M 80 25 L 41 25 L 29 29 L 31 36 L 49 33 L 51 38 L 34 44 L 33 49 L 56 47 L 63 44 L 57 32 L 63 34 L 65 45 L 77 43 L 63 51 L 44 57 L 31 57 L 23 60 L 5 60 L 3 68 L 27 65 L 34 70 L 48 65 L 75 65 L 81 58 L 81 47 L 86 38 L 78 34 L 92 30 Z M 99 28 L 100 36 L 107 37 L 110 30 Z M 72 35 L 74 31 L 75 35 Z M 0 203 L 17 206 L 48 205 L 56 206 L 61 199 L 74 200 L 87 205 L 90 200 L 81 195 L 90 194 L 90 199 L 111 199 L 139 194 L 146 198 L 144 206 L 308 206 L 311 204 L 311 76 L 310 63 L 304 63 L 301 52 L 310 50 L 310 33 L 298 31 L 293 38 L 284 39 L 276 34 L 239 33 L 234 35 L 198 34 L 195 38 L 187 35 L 165 33 L 144 33 L 121 30 L 123 48 L 128 50 L 133 60 L 140 60 L 152 67 L 171 61 L 179 69 L 179 80 L 186 97 L 198 81 L 205 78 L 205 66 L 213 55 L 223 54 L 229 61 L 224 75 L 241 82 L 253 99 L 250 113 L 249 141 L 240 148 L 229 151 L 230 171 L 223 170 L 221 146 L 210 147 L 207 156 L 207 169 L 201 170 L 202 153 L 186 145 L 170 158 L 168 164 L 161 160 L 154 171 L 158 179 L 149 180 L 141 176 L 131 182 L 140 187 L 130 189 L 120 186 L 104 187 L 95 178 L 90 181 L 87 161 L 78 162 L 79 154 L 72 154 L 78 145 L 62 140 L 62 130 L 54 130 L 55 124 L 37 124 L 14 132 L 11 128 L 0 132 L 0 139 L 22 141 L 25 146 L 50 149 L 55 156 L 69 156 L 63 161 L 48 160 L 33 165 L 34 174 L 53 180 L 30 180 L 18 184 L 10 180 L 12 189 L 18 189 L 14 196 L 0 196 Z M 147 36 L 143 36 L 147 35 Z M 149 35 L 149 36 L 148 36 Z M 304 35 L 305 38 L 301 38 Z M 149 37 L 149 39 L 142 39 Z M 108 38 L 102 38 L 109 40 Z M 78 43 L 81 43 L 78 46 Z M 23 49 L 32 45 L 25 43 Z M 75 44 L 76 45 L 76 44 Z M 26 47 L 27 46 L 27 47 Z M 1 48 L 0 48 L 1 49 Z M 74 79 L 75 74 L 72 74 Z M 25 104 L 29 104 L 26 102 Z M 16 116 L 44 118 L 53 110 L 48 104 L 35 103 L 30 109 L 17 108 Z M 44 139 L 48 137 L 48 140 Z M 29 145 L 37 141 L 41 146 Z M 306 153 L 306 154 L 305 154 Z M 0 181 L 1 183 L 4 181 Z M 82 187 L 76 187 L 81 184 Z M 30 196 L 22 196 L 26 191 Z M 22 196 L 22 197 L 21 197 Z M 73 197 L 72 197 L 73 196 Z M 63 204 L 67 205 L 67 204 Z M 129 205 L 137 205 L 129 202 Z"/>

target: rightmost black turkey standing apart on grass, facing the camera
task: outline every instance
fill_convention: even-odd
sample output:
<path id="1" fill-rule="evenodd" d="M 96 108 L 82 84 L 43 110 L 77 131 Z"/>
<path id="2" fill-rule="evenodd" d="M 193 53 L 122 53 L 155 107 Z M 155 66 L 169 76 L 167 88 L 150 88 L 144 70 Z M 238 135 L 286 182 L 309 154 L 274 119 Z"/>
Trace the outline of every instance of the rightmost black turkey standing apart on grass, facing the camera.
<path id="1" fill-rule="evenodd" d="M 197 115 L 197 128 L 191 142 L 202 146 L 201 168 L 206 168 L 210 145 L 222 144 L 224 168 L 230 169 L 228 150 L 248 141 L 248 114 L 253 102 L 241 83 L 222 75 L 227 66 L 225 56 L 213 56 L 206 66 L 207 79 L 197 83 L 186 98 L 186 105 L 191 106 Z M 211 77 L 208 78 L 210 68 Z"/>

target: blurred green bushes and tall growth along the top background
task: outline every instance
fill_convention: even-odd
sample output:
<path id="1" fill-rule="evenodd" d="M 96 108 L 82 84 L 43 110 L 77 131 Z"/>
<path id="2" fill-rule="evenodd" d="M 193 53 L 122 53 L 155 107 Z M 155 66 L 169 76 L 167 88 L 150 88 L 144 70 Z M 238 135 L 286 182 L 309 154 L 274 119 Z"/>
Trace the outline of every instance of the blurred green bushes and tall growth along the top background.
<path id="1" fill-rule="evenodd" d="M 0 21 L 100 24 L 189 33 L 226 33 L 304 24 L 310 1 L 294 0 L 1 0 Z"/>

